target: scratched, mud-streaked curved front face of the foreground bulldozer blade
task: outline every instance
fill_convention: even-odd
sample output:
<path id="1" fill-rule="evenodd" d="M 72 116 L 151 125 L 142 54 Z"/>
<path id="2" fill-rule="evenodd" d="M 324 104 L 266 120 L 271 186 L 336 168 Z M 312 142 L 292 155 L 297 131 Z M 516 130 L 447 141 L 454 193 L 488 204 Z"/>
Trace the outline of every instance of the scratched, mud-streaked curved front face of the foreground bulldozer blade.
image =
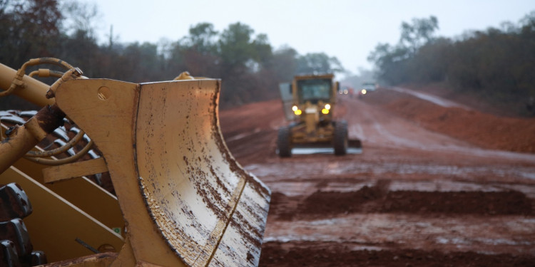
<path id="1" fill-rule="evenodd" d="M 153 221 L 190 266 L 257 266 L 270 192 L 228 152 L 219 80 L 141 85 L 140 186 Z"/>

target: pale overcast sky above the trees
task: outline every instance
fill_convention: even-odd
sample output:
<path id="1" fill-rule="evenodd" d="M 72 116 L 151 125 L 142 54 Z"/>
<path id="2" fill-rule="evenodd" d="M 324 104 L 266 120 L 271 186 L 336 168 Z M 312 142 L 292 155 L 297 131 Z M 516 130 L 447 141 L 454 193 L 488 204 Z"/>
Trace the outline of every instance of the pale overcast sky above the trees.
<path id="1" fill-rule="evenodd" d="M 104 42 L 113 25 L 120 42 L 177 41 L 190 26 L 213 23 L 223 31 L 245 23 L 265 33 L 274 48 L 287 45 L 298 53 L 325 52 L 352 73 L 371 68 L 367 56 L 377 43 L 395 44 L 402 21 L 436 16 L 438 36 L 518 23 L 535 11 L 534 0 L 80 0 L 96 4 L 101 14 L 98 38 Z"/>

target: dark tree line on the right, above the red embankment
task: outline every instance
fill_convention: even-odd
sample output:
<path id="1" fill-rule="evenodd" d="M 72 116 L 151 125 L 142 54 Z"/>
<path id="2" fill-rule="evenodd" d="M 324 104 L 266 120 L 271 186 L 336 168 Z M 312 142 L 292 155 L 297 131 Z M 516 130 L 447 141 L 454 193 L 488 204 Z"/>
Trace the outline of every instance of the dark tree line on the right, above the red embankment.
<path id="1" fill-rule="evenodd" d="M 434 16 L 404 22 L 396 45 L 379 43 L 368 57 L 390 85 L 441 83 L 473 93 L 509 114 L 535 115 L 535 11 L 519 23 L 435 37 Z"/>

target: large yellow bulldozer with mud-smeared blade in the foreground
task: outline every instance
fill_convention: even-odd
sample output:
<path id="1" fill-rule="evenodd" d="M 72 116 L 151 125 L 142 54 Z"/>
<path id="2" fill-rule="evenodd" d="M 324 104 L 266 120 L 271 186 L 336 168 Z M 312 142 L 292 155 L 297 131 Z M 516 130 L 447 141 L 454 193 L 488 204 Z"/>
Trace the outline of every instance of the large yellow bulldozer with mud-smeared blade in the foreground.
<path id="1" fill-rule="evenodd" d="M 43 107 L 0 112 L 0 266 L 257 266 L 270 190 L 225 145 L 220 83 L 0 64 L 0 97 Z"/>

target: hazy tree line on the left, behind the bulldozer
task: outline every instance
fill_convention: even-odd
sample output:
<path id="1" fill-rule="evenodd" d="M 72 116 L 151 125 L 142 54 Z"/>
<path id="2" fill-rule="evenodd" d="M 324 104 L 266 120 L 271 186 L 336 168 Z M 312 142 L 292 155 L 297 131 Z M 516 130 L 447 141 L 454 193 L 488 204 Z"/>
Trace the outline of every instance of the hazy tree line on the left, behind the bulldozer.
<path id="1" fill-rule="evenodd" d="M 17 69 L 31 58 L 54 57 L 90 78 L 133 83 L 171 80 L 188 71 L 223 80 L 223 108 L 278 98 L 278 83 L 295 74 L 343 71 L 337 58 L 322 52 L 275 49 L 267 35 L 240 22 L 223 31 L 198 23 L 177 41 L 121 43 L 111 33 L 98 43 L 92 26 L 97 14 L 96 6 L 80 1 L 0 0 L 0 63 Z M 0 99 L 0 108 L 17 108 L 9 102 Z"/>

